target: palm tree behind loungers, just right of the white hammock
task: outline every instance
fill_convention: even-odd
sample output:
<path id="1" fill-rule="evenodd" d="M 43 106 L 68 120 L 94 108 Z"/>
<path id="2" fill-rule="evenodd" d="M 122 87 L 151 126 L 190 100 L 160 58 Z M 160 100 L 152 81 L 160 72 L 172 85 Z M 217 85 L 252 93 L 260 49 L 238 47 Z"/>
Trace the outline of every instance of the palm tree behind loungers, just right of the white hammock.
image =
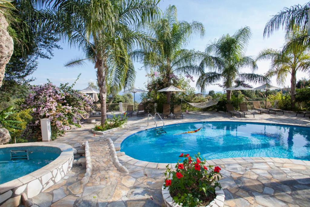
<path id="1" fill-rule="evenodd" d="M 196 83 L 201 92 L 205 92 L 207 86 L 220 80 L 223 81 L 225 88 L 231 87 L 237 79 L 254 83 L 268 81 L 263 75 L 240 71 L 243 67 L 250 67 L 253 72 L 257 69 L 255 60 L 251 56 L 245 56 L 251 35 L 250 27 L 244 27 L 238 29 L 232 36 L 223 35 L 206 46 L 205 57 L 200 67 L 208 68 L 209 72 L 202 71 Z M 228 102 L 230 95 L 231 91 L 227 91 Z"/>

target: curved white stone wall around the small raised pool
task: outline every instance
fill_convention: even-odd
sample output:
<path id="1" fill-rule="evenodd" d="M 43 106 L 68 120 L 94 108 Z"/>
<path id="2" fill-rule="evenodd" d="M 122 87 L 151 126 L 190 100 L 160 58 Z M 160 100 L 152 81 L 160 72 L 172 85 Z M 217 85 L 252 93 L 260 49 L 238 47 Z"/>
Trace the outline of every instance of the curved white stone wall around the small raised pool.
<path id="1" fill-rule="evenodd" d="M 0 185 L 0 205 L 17 207 L 21 202 L 21 195 L 24 193 L 25 199 L 37 196 L 41 191 L 53 186 L 56 182 L 71 170 L 73 163 L 73 150 L 70 145 L 56 142 L 32 142 L 20 144 L 1 145 L 6 147 L 27 147 L 27 146 L 50 146 L 57 147 L 61 154 L 51 163 L 45 165 L 28 175 L 11 180 Z"/>

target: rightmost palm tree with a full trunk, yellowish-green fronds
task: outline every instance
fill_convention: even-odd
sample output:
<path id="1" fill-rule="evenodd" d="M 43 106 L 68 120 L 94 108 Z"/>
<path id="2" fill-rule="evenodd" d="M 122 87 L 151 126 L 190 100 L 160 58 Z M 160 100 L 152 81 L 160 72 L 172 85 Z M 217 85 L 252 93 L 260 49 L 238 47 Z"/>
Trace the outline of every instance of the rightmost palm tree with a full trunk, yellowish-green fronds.
<path id="1" fill-rule="evenodd" d="M 296 73 L 298 71 L 310 71 L 310 52 L 305 45 L 300 45 L 294 49 L 287 49 L 286 46 L 305 34 L 305 30 L 294 29 L 292 32 L 286 33 L 285 44 L 281 50 L 264 49 L 257 56 L 257 60 L 271 60 L 267 76 L 272 77 L 276 75 L 279 85 L 285 85 L 286 77 L 288 75 L 291 76 L 291 110 L 295 106 Z"/>

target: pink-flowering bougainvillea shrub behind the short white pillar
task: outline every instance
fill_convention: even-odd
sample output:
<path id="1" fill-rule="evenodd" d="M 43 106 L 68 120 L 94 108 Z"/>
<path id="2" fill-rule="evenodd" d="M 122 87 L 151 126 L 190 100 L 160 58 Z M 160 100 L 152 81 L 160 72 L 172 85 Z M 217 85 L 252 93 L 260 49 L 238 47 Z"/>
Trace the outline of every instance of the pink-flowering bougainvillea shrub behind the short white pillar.
<path id="1" fill-rule="evenodd" d="M 48 118 L 51 126 L 57 128 L 58 134 L 63 134 L 70 129 L 70 124 L 74 124 L 78 119 L 78 113 L 87 117 L 84 106 L 91 106 L 93 100 L 86 94 L 74 90 L 72 86 L 68 86 L 67 83 L 56 87 L 51 82 L 32 86 L 31 93 L 23 105 L 24 108 L 32 110 L 33 120 L 27 127 L 40 128 L 40 119 Z"/>

